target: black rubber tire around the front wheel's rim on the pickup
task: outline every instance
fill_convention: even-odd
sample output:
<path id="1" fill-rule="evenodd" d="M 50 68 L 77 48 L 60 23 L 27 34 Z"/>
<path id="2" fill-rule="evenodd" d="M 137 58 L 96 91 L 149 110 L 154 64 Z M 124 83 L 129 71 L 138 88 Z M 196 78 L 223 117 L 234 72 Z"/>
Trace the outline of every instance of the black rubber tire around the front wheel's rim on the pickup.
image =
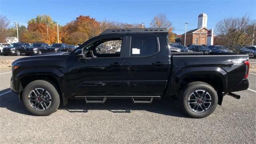
<path id="1" fill-rule="evenodd" d="M 32 90 L 34 90 L 35 88 L 43 88 L 51 96 L 51 104 L 45 110 L 37 110 L 37 109 L 33 108 L 32 104 L 28 100 L 28 96 L 29 96 L 30 92 Z M 58 91 L 56 90 L 56 88 L 54 87 L 54 84 L 52 84 L 48 81 L 45 81 L 45 80 L 36 80 L 36 81 L 30 82 L 24 88 L 24 91 L 22 93 L 22 102 L 24 103 L 24 106 L 30 113 L 32 113 L 36 116 L 48 116 L 58 109 L 58 107 L 60 105 L 60 95 L 59 95 Z"/>

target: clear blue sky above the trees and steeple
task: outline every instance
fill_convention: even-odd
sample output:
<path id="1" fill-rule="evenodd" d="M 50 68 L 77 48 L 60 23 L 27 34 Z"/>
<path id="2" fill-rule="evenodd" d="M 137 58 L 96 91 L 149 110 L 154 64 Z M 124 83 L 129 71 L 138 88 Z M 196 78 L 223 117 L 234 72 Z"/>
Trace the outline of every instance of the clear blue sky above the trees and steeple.
<path id="1" fill-rule="evenodd" d="M 65 25 L 79 15 L 129 24 L 145 23 L 149 27 L 158 13 L 166 14 L 174 33 L 182 34 L 197 28 L 198 15 L 208 15 L 208 28 L 228 17 L 245 14 L 256 20 L 256 0 L 0 0 L 0 14 L 10 22 L 27 26 L 37 15 L 50 15 Z M 11 25 L 12 26 L 12 25 Z"/>

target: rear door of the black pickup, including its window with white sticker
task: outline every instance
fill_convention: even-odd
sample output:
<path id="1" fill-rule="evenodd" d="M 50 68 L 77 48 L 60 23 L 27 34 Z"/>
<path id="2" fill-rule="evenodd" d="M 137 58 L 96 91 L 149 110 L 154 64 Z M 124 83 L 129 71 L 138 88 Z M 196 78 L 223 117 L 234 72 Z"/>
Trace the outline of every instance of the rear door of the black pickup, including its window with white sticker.
<path id="1" fill-rule="evenodd" d="M 132 34 L 128 37 L 124 62 L 125 94 L 163 93 L 170 65 L 166 36 Z"/>

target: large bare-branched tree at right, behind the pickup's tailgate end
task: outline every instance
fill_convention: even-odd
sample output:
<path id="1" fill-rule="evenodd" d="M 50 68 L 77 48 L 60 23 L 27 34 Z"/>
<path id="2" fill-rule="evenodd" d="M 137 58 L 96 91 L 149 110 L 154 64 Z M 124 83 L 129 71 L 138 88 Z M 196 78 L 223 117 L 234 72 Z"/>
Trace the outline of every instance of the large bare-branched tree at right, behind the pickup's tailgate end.
<path id="1" fill-rule="evenodd" d="M 215 29 L 218 44 L 228 47 L 234 53 L 239 53 L 240 46 L 252 43 L 254 24 L 256 24 L 255 20 L 251 20 L 246 15 L 241 18 L 220 20 Z"/>

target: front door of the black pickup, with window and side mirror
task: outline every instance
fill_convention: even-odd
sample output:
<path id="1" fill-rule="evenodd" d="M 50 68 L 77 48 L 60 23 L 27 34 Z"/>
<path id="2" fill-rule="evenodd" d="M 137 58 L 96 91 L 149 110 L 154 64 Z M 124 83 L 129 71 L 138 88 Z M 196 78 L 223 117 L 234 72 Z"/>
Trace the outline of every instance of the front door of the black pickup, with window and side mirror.
<path id="1" fill-rule="evenodd" d="M 70 56 L 68 85 L 71 94 L 123 94 L 126 39 L 127 36 L 100 38 L 84 47 L 89 50 L 86 58 Z"/>

